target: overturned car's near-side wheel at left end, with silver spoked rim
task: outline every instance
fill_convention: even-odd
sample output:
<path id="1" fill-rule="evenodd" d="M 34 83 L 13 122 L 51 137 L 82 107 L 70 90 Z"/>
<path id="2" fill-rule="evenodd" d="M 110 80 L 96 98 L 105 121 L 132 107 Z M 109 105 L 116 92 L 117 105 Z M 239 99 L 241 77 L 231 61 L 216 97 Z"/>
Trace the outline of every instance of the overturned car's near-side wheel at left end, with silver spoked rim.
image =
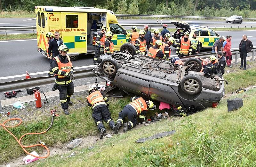
<path id="1" fill-rule="evenodd" d="M 119 69 L 119 67 L 119 63 L 112 57 L 107 57 L 100 63 L 102 72 L 108 76 L 116 75 L 117 69 Z"/>

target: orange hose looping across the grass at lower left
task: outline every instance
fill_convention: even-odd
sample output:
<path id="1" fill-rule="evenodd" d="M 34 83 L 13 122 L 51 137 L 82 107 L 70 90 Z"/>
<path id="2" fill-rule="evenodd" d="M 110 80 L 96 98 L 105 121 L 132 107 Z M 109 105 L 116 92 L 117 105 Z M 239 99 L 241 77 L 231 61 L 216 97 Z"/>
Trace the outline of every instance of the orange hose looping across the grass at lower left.
<path id="1" fill-rule="evenodd" d="M 2 127 L 4 128 L 4 130 L 6 130 L 9 134 L 11 134 L 11 135 L 14 137 L 14 139 L 19 143 L 20 147 L 24 150 L 25 153 L 27 153 L 27 154 L 30 155 L 30 156 L 34 156 L 34 157 L 36 157 L 36 158 L 47 158 L 47 157 L 50 155 L 50 150 L 49 150 L 45 145 L 43 145 L 43 144 L 33 144 L 33 145 L 29 145 L 29 146 L 23 146 L 23 145 L 21 144 L 21 140 L 22 140 L 22 138 L 23 138 L 24 136 L 29 135 L 29 134 L 44 134 L 44 133 L 46 133 L 46 132 L 52 127 L 54 116 L 59 116 L 59 115 L 55 114 L 55 112 L 56 112 L 56 110 L 52 110 L 52 111 L 51 111 L 51 114 L 52 114 L 52 122 L 51 122 L 51 125 L 50 125 L 44 132 L 39 132 L 39 133 L 26 133 L 26 134 L 23 134 L 23 135 L 20 137 L 19 140 L 18 140 L 18 139 L 12 134 L 12 132 L 10 132 L 7 128 L 8 128 L 8 127 L 18 127 L 18 126 L 20 126 L 20 124 L 22 123 L 22 120 L 21 120 L 20 118 L 11 118 L 11 119 L 9 119 L 9 120 L 5 120 L 3 123 L 0 123 L 0 126 L 2 126 Z M 5 125 L 7 122 L 10 122 L 10 121 L 12 121 L 12 120 L 19 120 L 20 122 L 19 122 L 17 125 L 14 125 L 14 126 L 7 126 L 7 125 Z M 35 155 L 33 155 L 33 154 L 30 154 L 30 153 L 25 149 L 25 148 L 36 147 L 36 146 L 44 147 L 44 148 L 47 150 L 46 156 L 35 156 Z"/>

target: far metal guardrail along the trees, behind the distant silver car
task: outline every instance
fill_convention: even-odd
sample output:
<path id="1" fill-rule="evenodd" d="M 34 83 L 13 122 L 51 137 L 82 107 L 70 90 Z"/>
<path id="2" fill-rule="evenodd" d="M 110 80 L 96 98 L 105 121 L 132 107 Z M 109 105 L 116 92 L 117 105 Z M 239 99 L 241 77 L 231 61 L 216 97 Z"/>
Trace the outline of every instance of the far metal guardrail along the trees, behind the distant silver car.
<path id="1" fill-rule="evenodd" d="M 171 15 L 125 15 L 125 14 L 116 14 L 116 17 L 146 17 L 146 18 L 206 18 L 206 19 L 227 19 L 225 17 L 205 17 L 205 16 L 171 16 Z M 244 20 L 256 20 L 256 18 L 243 18 Z"/>

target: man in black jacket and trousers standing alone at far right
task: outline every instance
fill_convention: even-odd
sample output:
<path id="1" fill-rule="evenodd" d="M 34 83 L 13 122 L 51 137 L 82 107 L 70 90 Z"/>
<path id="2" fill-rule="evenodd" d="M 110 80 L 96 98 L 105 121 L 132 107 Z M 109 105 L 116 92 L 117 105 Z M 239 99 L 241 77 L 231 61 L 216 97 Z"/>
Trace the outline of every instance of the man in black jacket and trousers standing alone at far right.
<path id="1" fill-rule="evenodd" d="M 252 41 L 247 39 L 246 35 L 243 35 L 243 39 L 241 40 L 239 44 L 239 51 L 240 51 L 240 58 L 241 58 L 241 63 L 240 63 L 240 69 L 243 68 L 244 65 L 244 70 L 246 70 L 246 57 L 247 54 L 252 50 Z"/>

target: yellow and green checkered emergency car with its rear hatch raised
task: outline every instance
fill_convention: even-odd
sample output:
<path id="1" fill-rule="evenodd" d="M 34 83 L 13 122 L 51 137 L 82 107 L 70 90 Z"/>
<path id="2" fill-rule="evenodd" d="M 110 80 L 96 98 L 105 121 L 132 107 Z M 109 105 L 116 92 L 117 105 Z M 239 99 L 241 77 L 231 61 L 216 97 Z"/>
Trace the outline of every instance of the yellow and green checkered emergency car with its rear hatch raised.
<path id="1" fill-rule="evenodd" d="M 175 41 L 179 43 L 180 38 L 184 37 L 184 33 L 188 31 L 190 34 L 188 38 L 192 40 L 192 37 L 194 33 L 196 32 L 197 37 L 196 39 L 200 42 L 201 49 L 211 49 L 214 45 L 214 42 L 219 39 L 219 34 L 216 33 L 214 30 L 210 28 L 206 28 L 204 26 L 200 25 L 189 25 L 187 22 L 184 21 L 171 21 L 173 23 L 177 30 L 173 33 L 173 38 L 175 38 Z M 225 39 L 224 39 L 225 40 Z M 173 47 L 177 47 L 177 44 L 173 44 Z"/>

